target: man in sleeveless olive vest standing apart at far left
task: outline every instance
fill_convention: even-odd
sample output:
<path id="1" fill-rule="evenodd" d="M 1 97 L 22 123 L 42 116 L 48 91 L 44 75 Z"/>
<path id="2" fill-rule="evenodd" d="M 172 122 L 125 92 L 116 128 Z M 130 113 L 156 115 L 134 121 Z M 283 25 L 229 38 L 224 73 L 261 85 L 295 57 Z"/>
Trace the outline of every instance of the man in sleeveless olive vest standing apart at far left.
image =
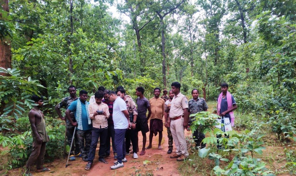
<path id="1" fill-rule="evenodd" d="M 50 169 L 43 167 L 46 142 L 49 141 L 49 137 L 46 133 L 44 114 L 40 110 L 44 104 L 43 97 L 33 95 L 31 99 L 37 105 L 34 106 L 29 112 L 29 121 L 33 136 L 33 151 L 27 161 L 25 175 L 32 175 L 30 171 L 32 170 L 32 166 L 36 161 L 37 172 L 50 171 Z"/>

